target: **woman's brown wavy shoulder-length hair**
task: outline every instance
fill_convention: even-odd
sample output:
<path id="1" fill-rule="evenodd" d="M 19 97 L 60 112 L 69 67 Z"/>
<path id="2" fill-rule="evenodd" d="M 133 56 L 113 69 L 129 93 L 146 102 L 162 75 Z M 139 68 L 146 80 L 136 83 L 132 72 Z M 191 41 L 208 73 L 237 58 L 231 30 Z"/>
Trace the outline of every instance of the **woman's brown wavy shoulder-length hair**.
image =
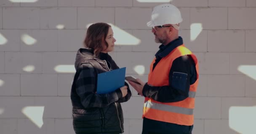
<path id="1" fill-rule="evenodd" d="M 94 23 L 88 27 L 84 46 L 94 49 L 94 56 L 99 57 L 100 52 L 104 51 L 103 45 L 109 47 L 105 39 L 110 27 L 107 23 Z"/>

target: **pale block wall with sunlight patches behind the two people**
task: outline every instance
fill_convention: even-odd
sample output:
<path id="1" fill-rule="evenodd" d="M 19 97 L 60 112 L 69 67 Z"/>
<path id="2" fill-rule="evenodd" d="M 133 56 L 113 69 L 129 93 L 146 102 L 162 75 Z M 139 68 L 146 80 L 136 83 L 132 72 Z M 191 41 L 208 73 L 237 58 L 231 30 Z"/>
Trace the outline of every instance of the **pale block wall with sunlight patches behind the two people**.
<path id="1" fill-rule="evenodd" d="M 161 4 L 150 1 L 0 0 L 0 134 L 74 134 L 73 64 L 91 23 L 117 26 L 112 57 L 147 81 L 159 44 L 146 23 Z M 180 8 L 180 35 L 199 59 L 193 134 L 255 134 L 256 0 L 158 1 Z M 140 134 L 144 98 L 132 92 L 125 134 Z"/>

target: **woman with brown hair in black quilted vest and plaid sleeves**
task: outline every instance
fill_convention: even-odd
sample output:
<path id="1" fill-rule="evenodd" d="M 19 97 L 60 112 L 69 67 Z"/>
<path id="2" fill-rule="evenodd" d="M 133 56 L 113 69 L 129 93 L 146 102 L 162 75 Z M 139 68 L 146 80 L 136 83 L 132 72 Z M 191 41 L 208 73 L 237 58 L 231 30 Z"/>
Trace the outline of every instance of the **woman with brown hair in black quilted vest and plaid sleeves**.
<path id="1" fill-rule="evenodd" d="M 86 33 L 84 45 L 75 61 L 76 74 L 71 89 L 73 127 L 76 134 L 123 133 L 123 111 L 120 103 L 131 98 L 125 86 L 112 93 L 97 94 L 97 74 L 118 69 L 109 56 L 114 50 L 115 38 L 110 25 L 95 23 Z"/>

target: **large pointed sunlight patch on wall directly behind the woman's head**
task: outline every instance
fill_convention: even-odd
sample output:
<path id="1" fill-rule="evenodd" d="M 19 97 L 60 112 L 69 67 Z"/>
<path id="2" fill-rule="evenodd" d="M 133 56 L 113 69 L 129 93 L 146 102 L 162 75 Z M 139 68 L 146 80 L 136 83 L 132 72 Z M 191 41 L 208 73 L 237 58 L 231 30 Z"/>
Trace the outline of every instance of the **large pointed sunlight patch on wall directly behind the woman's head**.
<path id="1" fill-rule="evenodd" d="M 86 27 L 88 28 L 93 23 L 88 24 Z M 135 36 L 131 35 L 130 33 L 127 33 L 126 31 L 122 30 L 121 28 L 113 25 L 112 23 L 108 23 L 113 32 L 114 32 L 114 38 L 117 40 L 115 42 L 116 45 L 138 45 L 141 43 L 141 40 L 136 38 Z"/>

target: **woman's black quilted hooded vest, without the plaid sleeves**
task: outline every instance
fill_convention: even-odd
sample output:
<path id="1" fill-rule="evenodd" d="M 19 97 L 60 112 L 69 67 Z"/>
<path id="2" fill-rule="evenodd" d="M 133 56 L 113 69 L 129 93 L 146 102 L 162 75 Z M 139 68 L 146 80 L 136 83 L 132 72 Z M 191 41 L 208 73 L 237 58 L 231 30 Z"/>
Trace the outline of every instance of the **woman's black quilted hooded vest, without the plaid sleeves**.
<path id="1" fill-rule="evenodd" d="M 111 58 L 112 59 L 112 58 Z M 123 133 L 123 111 L 119 102 L 111 103 L 106 108 L 84 108 L 75 90 L 81 64 L 91 64 L 97 74 L 109 71 L 106 61 L 93 57 L 91 49 L 79 49 L 75 67 L 77 72 L 71 88 L 73 127 L 76 134 L 120 134 Z M 111 69 L 117 69 L 113 60 Z M 110 70 L 111 70 L 110 69 Z M 97 75 L 96 75 L 97 76 Z M 96 83 L 95 83 L 96 84 Z"/>

